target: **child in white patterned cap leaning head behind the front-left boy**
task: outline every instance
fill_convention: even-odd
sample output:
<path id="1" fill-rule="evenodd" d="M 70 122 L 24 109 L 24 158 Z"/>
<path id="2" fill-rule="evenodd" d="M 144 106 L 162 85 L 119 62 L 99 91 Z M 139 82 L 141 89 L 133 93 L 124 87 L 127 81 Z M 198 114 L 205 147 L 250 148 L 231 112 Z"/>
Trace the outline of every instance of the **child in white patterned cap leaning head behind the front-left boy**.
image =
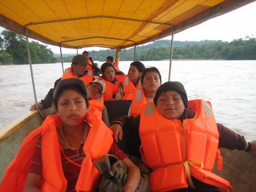
<path id="1" fill-rule="evenodd" d="M 102 119 L 102 121 L 109 127 L 108 112 L 104 105 L 104 94 L 106 90 L 106 84 L 104 81 L 96 79 L 90 82 L 87 86 L 88 99 L 89 99 L 89 110 L 95 108 L 96 115 Z"/>

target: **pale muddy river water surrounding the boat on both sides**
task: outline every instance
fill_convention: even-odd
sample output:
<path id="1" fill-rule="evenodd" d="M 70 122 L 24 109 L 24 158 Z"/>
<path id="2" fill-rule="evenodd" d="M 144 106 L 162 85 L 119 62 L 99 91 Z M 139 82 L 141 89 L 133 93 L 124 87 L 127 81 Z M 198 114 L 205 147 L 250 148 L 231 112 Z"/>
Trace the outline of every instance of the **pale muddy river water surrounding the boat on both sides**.
<path id="1" fill-rule="evenodd" d="M 103 62 L 101 62 L 103 63 Z M 131 62 L 120 62 L 127 74 Z M 169 61 L 145 61 L 168 81 Z M 64 63 L 64 69 L 70 63 Z M 37 99 L 45 97 L 62 76 L 61 63 L 34 64 Z M 188 99 L 212 103 L 216 122 L 248 140 L 256 139 L 256 61 L 173 61 L 171 80 L 181 82 Z M 34 104 L 29 65 L 0 66 L 0 129 L 28 112 Z M 120 106 L 118 106 L 120 107 Z"/>

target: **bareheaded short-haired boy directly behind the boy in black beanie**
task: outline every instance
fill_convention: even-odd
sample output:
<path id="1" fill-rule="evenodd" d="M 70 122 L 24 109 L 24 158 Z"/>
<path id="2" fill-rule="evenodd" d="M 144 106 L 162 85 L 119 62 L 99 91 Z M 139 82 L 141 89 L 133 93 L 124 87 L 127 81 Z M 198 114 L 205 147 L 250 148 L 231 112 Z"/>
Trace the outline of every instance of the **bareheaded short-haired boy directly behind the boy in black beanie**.
<path id="1" fill-rule="evenodd" d="M 136 89 L 132 97 L 132 104 L 128 111 L 128 116 L 137 116 L 146 103 L 153 102 L 156 90 L 162 84 L 159 70 L 155 67 L 146 68 L 140 78 L 142 88 Z"/>

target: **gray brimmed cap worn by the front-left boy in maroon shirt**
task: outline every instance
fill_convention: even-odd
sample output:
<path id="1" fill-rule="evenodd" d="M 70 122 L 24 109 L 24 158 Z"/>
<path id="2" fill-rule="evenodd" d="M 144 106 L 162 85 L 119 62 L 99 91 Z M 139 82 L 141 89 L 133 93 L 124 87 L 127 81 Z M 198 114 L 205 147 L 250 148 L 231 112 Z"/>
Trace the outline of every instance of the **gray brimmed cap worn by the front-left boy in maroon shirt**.
<path id="1" fill-rule="evenodd" d="M 72 77 L 72 78 L 62 79 L 58 82 L 53 93 L 53 98 L 55 98 L 56 94 L 60 89 L 68 85 L 74 85 L 82 88 L 82 90 L 85 92 L 86 96 L 88 97 L 87 88 L 86 88 L 86 85 L 84 84 L 84 81 L 81 80 L 80 78 Z"/>

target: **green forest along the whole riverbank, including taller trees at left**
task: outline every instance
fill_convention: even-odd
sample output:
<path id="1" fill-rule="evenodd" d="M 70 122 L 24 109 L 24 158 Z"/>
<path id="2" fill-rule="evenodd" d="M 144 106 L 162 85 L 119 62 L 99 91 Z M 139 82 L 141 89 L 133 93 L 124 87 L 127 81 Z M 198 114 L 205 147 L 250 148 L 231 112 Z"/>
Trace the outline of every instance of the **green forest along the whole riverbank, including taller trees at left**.
<path id="1" fill-rule="evenodd" d="M 175 36 L 174 36 L 175 37 Z M 136 47 L 136 60 L 152 61 L 170 59 L 170 40 L 157 40 Z M 38 42 L 30 42 L 32 64 L 61 62 L 60 55 Z M 84 48 L 83 50 L 86 50 Z M 93 60 L 106 61 L 115 50 L 90 51 Z M 134 60 L 134 48 L 122 50 L 120 61 Z M 71 62 L 74 55 L 63 55 L 63 62 Z M 246 36 L 223 42 L 221 40 L 174 41 L 174 60 L 256 60 L 256 38 Z M 0 62 L 2 64 L 28 64 L 28 52 L 24 36 L 4 30 L 0 36 Z"/>

